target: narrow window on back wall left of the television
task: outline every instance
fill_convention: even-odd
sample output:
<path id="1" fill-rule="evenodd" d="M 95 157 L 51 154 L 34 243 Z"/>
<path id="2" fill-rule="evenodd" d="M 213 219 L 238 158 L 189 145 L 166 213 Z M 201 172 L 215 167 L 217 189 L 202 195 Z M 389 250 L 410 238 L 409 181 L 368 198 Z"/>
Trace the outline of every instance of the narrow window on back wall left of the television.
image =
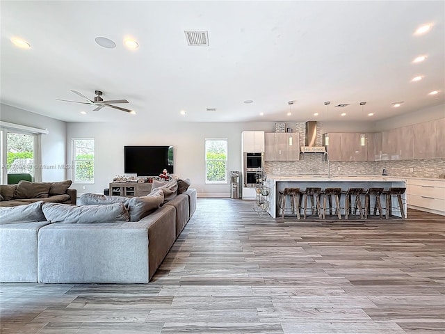
<path id="1" fill-rule="evenodd" d="M 72 180 L 78 183 L 95 182 L 95 140 L 72 139 Z"/>

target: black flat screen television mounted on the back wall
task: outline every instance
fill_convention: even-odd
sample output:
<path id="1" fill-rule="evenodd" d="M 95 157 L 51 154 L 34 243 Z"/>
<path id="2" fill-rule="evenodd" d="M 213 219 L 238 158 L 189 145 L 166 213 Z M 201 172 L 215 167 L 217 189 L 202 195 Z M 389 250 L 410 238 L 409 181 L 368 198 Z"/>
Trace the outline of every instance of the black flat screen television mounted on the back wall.
<path id="1" fill-rule="evenodd" d="M 157 176 L 173 173 L 173 146 L 124 146 L 124 173 Z"/>

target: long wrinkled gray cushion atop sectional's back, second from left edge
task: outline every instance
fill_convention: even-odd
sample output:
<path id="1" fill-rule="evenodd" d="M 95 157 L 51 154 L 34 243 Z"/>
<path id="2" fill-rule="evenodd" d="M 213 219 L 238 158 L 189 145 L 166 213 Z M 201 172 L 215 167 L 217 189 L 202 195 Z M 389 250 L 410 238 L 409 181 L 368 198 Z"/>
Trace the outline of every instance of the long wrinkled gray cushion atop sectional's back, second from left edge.
<path id="1" fill-rule="evenodd" d="M 105 205 L 71 205 L 44 203 L 42 210 L 51 223 L 111 223 L 129 221 L 129 214 L 123 203 Z"/>

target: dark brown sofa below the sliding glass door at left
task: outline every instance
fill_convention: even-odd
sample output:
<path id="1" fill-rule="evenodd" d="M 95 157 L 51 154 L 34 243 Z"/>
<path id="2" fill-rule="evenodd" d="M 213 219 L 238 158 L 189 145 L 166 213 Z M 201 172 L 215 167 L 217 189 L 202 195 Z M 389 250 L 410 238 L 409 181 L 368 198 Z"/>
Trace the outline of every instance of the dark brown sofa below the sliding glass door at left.
<path id="1" fill-rule="evenodd" d="M 76 204 L 76 189 L 70 189 L 71 181 L 29 182 L 0 185 L 0 207 L 26 205 L 40 200 L 44 202 Z"/>

